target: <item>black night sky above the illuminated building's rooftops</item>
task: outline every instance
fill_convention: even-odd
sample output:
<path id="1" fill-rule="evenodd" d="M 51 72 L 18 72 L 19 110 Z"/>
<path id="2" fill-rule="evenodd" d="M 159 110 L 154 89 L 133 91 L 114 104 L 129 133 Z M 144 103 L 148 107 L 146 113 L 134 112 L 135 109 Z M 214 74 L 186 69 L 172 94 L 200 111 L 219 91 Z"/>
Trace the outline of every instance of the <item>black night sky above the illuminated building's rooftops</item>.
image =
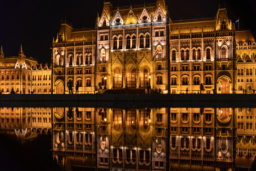
<path id="1" fill-rule="evenodd" d="M 104 0 L 55 1 L 55 0 L 1 0 L 0 1 L 0 45 L 5 56 L 17 56 L 22 47 L 27 57 L 39 63 L 51 61 L 52 38 L 60 28 L 61 18 L 75 28 L 95 27 L 97 13 L 101 15 Z M 155 3 L 156 0 L 111 1 L 113 6 Z M 240 29 L 256 31 L 256 1 L 225 1 L 229 19 L 238 17 Z M 214 17 L 219 0 L 165 0 L 172 20 Z M 237 23 L 236 23 L 237 26 Z M 254 30 L 253 30 L 254 28 Z M 255 34 L 254 34 L 255 35 Z"/>

